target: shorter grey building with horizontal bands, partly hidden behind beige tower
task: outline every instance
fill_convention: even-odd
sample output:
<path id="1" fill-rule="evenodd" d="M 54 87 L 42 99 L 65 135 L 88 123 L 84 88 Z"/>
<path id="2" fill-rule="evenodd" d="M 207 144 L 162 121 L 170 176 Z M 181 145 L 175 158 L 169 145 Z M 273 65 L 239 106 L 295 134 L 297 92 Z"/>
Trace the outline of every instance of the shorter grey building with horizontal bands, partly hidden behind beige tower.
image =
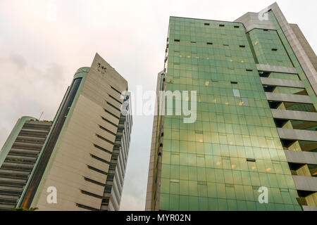
<path id="1" fill-rule="evenodd" d="M 0 151 L 0 210 L 12 210 L 42 150 L 51 122 L 21 117 Z"/>

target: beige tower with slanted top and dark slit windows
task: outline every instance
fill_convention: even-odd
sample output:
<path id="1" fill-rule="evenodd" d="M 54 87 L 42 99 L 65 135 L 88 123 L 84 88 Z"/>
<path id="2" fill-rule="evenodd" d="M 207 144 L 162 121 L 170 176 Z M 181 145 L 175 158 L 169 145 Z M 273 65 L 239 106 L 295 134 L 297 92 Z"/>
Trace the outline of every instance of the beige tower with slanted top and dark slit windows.
<path id="1" fill-rule="evenodd" d="M 120 113 L 123 91 L 128 82 L 98 54 L 77 70 L 20 207 L 119 209 L 132 127 Z"/>

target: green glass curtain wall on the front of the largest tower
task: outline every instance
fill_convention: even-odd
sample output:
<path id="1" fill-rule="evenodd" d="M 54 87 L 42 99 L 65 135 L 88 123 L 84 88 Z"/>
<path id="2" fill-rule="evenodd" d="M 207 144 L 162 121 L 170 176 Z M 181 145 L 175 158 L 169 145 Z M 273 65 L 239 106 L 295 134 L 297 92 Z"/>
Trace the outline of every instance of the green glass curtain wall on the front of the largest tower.
<path id="1" fill-rule="evenodd" d="M 261 43 L 259 61 L 291 65 L 286 51 L 273 57 L 261 41 L 280 48 L 276 32 L 250 36 Z M 170 18 L 166 77 L 167 91 L 198 99 L 196 122 L 164 117 L 160 210 L 301 210 L 242 24 Z M 259 203 L 261 186 L 268 204 Z"/>

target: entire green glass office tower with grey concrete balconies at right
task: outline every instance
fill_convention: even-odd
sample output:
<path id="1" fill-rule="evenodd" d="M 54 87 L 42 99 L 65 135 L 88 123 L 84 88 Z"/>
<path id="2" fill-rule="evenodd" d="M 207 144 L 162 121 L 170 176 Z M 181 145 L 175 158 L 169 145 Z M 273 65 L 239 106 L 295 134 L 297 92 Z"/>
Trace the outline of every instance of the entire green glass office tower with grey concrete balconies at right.
<path id="1" fill-rule="evenodd" d="M 277 4 L 232 23 L 170 17 L 157 90 L 197 91 L 197 120 L 154 117 L 146 210 L 316 210 L 316 80 Z"/>

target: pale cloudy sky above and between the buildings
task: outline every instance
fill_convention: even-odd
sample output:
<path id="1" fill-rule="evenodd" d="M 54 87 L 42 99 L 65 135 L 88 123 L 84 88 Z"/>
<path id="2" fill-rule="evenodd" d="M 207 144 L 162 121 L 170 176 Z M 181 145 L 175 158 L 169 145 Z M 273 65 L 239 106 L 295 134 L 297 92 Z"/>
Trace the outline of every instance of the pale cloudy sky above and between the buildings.
<path id="1" fill-rule="evenodd" d="M 0 0 L 0 146 L 23 115 L 52 120 L 77 68 L 98 52 L 128 80 L 154 90 L 170 15 L 233 21 L 273 1 Z M 280 0 L 317 49 L 316 0 Z M 144 210 L 153 117 L 134 117 L 121 210 Z"/>

